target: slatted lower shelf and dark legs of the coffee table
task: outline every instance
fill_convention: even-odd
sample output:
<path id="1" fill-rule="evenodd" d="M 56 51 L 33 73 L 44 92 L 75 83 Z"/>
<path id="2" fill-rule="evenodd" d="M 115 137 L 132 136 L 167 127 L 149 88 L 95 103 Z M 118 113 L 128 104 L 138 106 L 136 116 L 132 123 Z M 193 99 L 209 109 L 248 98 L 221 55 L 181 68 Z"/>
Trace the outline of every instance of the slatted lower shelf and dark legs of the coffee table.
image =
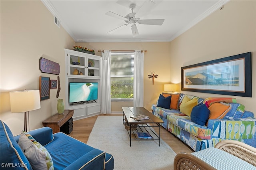
<path id="1" fill-rule="evenodd" d="M 125 120 L 124 120 L 125 123 Z M 155 123 L 156 125 L 149 125 L 149 124 L 138 124 L 136 130 L 127 130 L 129 137 L 130 137 L 130 146 L 132 146 L 132 140 L 159 140 L 160 146 L 160 124 Z M 131 124 L 130 124 L 131 125 Z M 152 127 L 159 127 L 159 136 L 158 134 L 152 129 Z M 147 132 L 150 134 L 151 138 L 139 138 L 137 132 Z"/>

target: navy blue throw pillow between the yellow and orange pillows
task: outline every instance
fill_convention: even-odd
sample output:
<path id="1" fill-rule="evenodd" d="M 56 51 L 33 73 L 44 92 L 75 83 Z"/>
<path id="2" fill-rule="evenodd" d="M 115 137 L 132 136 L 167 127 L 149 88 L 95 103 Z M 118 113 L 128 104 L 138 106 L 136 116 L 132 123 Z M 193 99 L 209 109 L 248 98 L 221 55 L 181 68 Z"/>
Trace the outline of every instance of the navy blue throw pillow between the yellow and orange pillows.
<path id="1" fill-rule="evenodd" d="M 193 121 L 194 123 L 204 126 L 208 121 L 209 115 L 210 110 L 208 109 L 208 107 L 205 104 L 200 103 L 193 107 L 190 118 L 191 121 Z"/>

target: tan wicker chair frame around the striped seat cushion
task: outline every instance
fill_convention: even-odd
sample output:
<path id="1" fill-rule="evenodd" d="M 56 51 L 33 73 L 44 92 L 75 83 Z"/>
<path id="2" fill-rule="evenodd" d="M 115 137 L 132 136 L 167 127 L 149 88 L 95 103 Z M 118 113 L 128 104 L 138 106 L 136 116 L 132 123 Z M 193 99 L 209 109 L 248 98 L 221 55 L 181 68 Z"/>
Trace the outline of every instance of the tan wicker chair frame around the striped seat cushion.
<path id="1" fill-rule="evenodd" d="M 224 163 L 226 164 L 227 159 L 229 159 L 228 157 L 231 154 L 230 156 L 232 157 L 236 156 L 248 162 L 249 166 L 251 165 L 256 166 L 256 148 L 248 144 L 244 144 L 236 140 L 222 140 L 221 142 L 216 144 L 215 148 L 219 150 L 224 150 L 225 152 L 229 153 L 228 156 L 226 156 L 226 160 L 223 159 L 222 162 L 216 162 L 216 164 L 219 164 L 219 165 L 222 165 Z M 206 148 L 205 150 L 200 150 L 197 153 L 209 151 L 209 153 L 206 155 L 210 159 L 212 157 L 210 150 L 212 149 L 213 148 Z M 200 156 L 196 156 L 195 153 L 196 152 L 192 154 L 187 154 L 187 153 L 177 154 L 174 158 L 174 170 L 216 170 L 218 169 L 218 168 L 215 168 L 213 165 L 208 164 L 207 161 L 205 161 L 205 160 L 208 160 L 208 158 L 206 158 L 205 160 L 202 160 L 202 158 L 200 158 Z"/>

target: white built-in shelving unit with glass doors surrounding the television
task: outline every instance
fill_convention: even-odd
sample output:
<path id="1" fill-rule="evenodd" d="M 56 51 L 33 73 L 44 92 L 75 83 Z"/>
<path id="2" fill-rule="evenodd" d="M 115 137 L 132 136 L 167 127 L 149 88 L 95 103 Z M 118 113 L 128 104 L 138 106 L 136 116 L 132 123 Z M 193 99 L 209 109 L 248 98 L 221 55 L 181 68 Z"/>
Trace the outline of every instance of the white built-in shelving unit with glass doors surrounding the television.
<path id="1" fill-rule="evenodd" d="M 66 63 L 66 92 L 65 109 L 74 110 L 73 119 L 83 119 L 100 114 L 101 97 L 101 61 L 102 57 L 70 49 L 65 50 Z M 98 83 L 98 99 L 90 103 L 69 103 L 68 89 L 70 82 L 96 82 Z"/>

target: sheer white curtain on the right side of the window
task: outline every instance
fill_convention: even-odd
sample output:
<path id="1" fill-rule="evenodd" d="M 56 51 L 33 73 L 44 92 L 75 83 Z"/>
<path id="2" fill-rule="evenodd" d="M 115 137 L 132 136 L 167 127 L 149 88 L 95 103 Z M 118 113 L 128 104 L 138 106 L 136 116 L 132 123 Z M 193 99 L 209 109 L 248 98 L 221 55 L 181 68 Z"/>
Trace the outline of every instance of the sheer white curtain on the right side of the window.
<path id="1" fill-rule="evenodd" d="M 134 53 L 134 93 L 133 107 L 143 107 L 143 75 L 144 75 L 144 52 L 136 50 Z"/>

